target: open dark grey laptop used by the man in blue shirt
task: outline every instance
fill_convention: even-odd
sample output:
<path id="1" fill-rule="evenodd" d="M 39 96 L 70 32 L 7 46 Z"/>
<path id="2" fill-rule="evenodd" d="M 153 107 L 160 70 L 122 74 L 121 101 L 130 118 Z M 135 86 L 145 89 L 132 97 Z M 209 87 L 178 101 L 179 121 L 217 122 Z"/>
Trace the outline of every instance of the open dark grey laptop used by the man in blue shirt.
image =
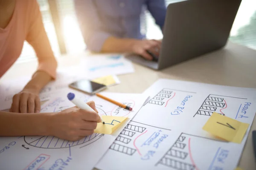
<path id="1" fill-rule="evenodd" d="M 186 0 L 167 7 L 157 62 L 136 54 L 126 58 L 160 70 L 224 47 L 241 0 Z"/>

